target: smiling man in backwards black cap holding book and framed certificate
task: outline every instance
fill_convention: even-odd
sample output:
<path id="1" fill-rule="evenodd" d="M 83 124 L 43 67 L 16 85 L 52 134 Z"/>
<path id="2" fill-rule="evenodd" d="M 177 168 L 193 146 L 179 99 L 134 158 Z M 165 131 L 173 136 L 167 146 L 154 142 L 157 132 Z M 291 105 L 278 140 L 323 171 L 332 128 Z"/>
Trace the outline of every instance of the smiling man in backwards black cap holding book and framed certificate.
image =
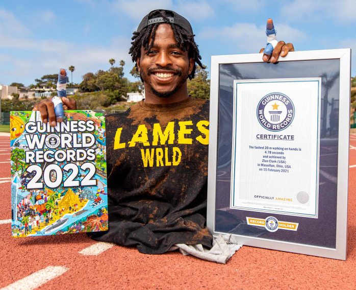
<path id="1" fill-rule="evenodd" d="M 205 225 L 209 103 L 187 91 L 196 65 L 203 67 L 192 28 L 173 11 L 155 10 L 132 39 L 145 100 L 107 116 L 109 231 L 91 237 L 150 254 L 175 244 L 211 247 Z M 263 59 L 275 62 L 293 50 L 278 42 Z M 67 100 L 64 106 L 74 109 Z M 52 124 L 52 106 L 44 101 L 34 109 Z"/>

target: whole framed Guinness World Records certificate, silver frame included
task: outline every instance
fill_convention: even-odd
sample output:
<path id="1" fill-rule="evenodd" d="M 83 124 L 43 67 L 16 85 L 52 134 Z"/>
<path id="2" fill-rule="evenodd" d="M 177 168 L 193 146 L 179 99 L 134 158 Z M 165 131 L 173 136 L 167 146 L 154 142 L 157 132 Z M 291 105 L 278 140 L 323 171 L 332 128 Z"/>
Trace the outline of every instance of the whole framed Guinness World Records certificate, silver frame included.
<path id="1" fill-rule="evenodd" d="M 213 56 L 207 224 L 346 259 L 350 50 Z"/>

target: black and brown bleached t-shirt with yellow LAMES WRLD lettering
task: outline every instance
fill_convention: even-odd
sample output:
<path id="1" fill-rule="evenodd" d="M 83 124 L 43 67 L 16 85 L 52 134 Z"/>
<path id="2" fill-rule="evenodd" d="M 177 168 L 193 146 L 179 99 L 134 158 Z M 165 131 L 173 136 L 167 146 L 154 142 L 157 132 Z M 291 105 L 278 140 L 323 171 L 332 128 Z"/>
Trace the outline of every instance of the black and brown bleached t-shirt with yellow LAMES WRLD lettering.
<path id="1" fill-rule="evenodd" d="M 177 243 L 211 247 L 209 102 L 141 101 L 106 120 L 109 231 L 91 237 L 149 254 Z"/>

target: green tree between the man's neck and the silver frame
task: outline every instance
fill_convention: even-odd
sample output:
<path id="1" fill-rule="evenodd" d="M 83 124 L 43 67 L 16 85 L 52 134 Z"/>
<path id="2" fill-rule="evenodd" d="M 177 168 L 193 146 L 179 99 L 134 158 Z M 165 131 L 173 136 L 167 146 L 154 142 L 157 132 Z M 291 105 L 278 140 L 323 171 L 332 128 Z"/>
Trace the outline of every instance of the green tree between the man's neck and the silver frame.
<path id="1" fill-rule="evenodd" d="M 209 100 L 210 80 L 208 80 L 208 72 L 200 66 L 196 66 L 194 79 L 188 80 L 187 88 L 188 93 L 193 98 Z"/>

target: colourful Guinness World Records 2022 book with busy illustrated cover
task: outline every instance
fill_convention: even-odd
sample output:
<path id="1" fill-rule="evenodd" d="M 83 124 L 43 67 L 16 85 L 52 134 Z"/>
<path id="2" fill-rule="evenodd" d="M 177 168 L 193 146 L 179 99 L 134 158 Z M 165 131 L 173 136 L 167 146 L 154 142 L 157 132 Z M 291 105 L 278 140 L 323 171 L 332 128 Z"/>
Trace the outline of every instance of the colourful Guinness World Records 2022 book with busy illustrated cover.
<path id="1" fill-rule="evenodd" d="M 108 230 L 104 111 L 10 114 L 12 236 Z"/>

